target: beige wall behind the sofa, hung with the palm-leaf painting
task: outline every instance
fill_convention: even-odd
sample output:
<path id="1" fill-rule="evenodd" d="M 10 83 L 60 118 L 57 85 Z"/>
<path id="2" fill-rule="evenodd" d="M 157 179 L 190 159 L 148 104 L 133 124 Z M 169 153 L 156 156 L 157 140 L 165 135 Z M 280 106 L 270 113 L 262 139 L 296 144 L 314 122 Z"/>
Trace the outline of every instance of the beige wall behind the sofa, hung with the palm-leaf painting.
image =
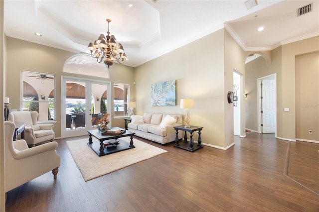
<path id="1" fill-rule="evenodd" d="M 184 115 L 180 99 L 194 99 L 190 123 L 204 127 L 202 142 L 218 147 L 232 143 L 233 138 L 225 141 L 227 92 L 224 54 L 224 30 L 221 29 L 137 67 L 136 113 L 169 112 Z M 168 80 L 176 80 L 176 106 L 151 106 L 151 85 Z M 232 89 L 232 84 L 228 86 Z"/>

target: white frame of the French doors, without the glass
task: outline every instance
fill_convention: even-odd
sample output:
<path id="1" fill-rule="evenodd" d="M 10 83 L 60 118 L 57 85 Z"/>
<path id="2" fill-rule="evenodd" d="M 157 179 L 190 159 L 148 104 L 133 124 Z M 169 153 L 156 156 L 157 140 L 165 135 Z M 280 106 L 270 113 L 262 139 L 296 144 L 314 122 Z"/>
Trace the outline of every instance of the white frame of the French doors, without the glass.
<path id="1" fill-rule="evenodd" d="M 87 135 L 87 130 L 92 129 L 91 124 L 91 109 L 86 109 L 85 110 L 85 123 L 86 126 L 84 129 L 77 129 L 77 130 L 66 130 L 66 113 L 65 113 L 65 106 L 66 106 L 66 81 L 79 81 L 85 83 L 85 108 L 91 108 L 91 84 L 92 83 L 99 83 L 99 84 L 105 84 L 107 85 L 107 105 L 111 105 L 111 99 L 113 95 L 111 95 L 111 82 L 106 82 L 106 81 L 100 81 L 100 80 L 88 80 L 85 78 L 78 78 L 78 77 L 68 77 L 68 76 L 61 76 L 61 138 L 65 137 L 75 137 L 75 136 L 80 136 L 80 135 Z M 109 107 L 108 109 L 111 109 Z M 111 111 L 110 111 L 111 113 Z M 112 113 L 111 113 L 112 114 Z M 112 120 L 110 119 L 110 126 L 112 125 Z"/>

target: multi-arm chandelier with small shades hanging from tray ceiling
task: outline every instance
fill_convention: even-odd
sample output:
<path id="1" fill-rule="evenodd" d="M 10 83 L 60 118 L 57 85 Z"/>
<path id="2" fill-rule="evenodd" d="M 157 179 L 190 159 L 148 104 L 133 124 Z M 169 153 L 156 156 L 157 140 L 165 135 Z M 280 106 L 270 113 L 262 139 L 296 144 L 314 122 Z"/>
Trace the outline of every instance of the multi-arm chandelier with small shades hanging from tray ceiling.
<path id="1" fill-rule="evenodd" d="M 96 58 L 98 63 L 104 60 L 104 63 L 110 68 L 113 65 L 113 61 L 116 60 L 122 64 L 126 59 L 126 55 L 121 43 L 117 43 L 115 36 L 110 36 L 109 23 L 110 19 L 106 19 L 108 22 L 108 34 L 106 37 L 101 34 L 99 38 L 93 43 L 89 43 L 88 50 L 91 52 L 91 56 Z M 94 53 L 93 53 L 94 52 Z"/>

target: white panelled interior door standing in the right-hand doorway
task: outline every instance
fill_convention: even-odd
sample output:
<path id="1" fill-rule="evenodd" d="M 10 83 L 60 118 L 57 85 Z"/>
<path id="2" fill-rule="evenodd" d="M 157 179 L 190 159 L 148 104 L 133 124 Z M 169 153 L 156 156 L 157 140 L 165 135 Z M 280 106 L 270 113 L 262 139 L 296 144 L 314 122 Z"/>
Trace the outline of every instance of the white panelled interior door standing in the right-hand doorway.
<path id="1" fill-rule="evenodd" d="M 276 132 L 276 81 L 262 80 L 262 132 Z"/>

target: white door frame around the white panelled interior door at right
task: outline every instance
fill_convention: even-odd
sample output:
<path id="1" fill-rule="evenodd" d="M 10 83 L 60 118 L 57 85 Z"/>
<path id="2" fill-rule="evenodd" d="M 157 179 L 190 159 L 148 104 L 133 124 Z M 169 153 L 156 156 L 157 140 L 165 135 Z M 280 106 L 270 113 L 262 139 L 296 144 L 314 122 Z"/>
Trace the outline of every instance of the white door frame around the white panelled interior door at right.
<path id="1" fill-rule="evenodd" d="M 272 78 L 275 80 L 275 94 L 276 94 L 276 97 L 275 97 L 275 108 L 276 108 L 276 118 L 275 118 L 275 121 L 276 121 L 276 132 L 275 132 L 275 137 L 277 137 L 277 75 L 276 74 L 271 74 L 271 75 L 267 75 L 267 76 L 264 76 L 264 77 L 261 77 L 261 78 L 257 78 L 257 88 L 258 88 L 258 98 L 257 98 L 257 105 L 258 105 L 258 111 L 257 111 L 257 117 L 258 117 L 258 133 L 262 133 L 262 113 L 261 113 L 261 110 L 262 110 L 262 103 L 260 101 L 261 99 L 261 96 L 262 96 L 262 89 L 261 89 L 261 82 L 262 80 L 266 80 L 266 79 L 269 79 L 269 78 Z"/>

